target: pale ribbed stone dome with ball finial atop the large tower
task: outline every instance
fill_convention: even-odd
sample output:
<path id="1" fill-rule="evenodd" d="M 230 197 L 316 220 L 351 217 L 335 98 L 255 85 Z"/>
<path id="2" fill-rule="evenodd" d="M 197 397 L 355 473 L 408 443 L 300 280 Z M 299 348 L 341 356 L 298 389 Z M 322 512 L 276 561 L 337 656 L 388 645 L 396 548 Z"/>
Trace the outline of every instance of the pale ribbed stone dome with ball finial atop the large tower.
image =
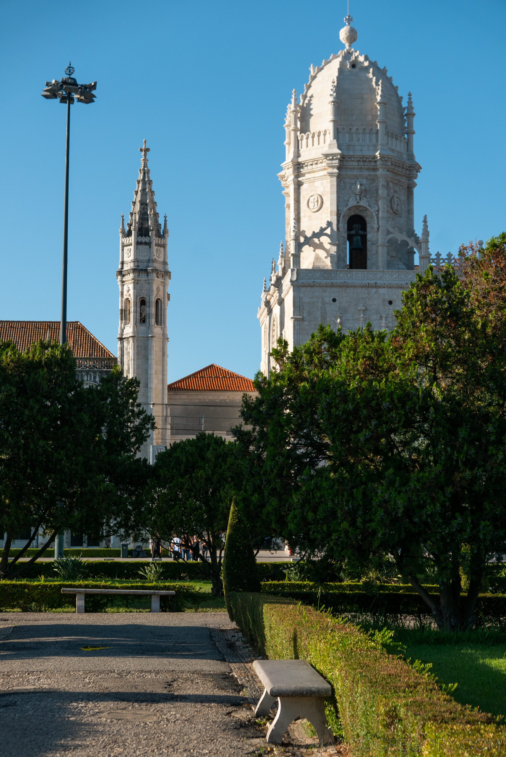
<path id="1" fill-rule="evenodd" d="M 344 153 L 371 154 L 377 151 L 378 104 L 383 102 L 388 132 L 387 145 L 406 153 L 405 108 L 402 97 L 388 76 L 386 67 L 351 48 L 357 33 L 347 16 L 340 39 L 346 49 L 331 55 L 321 66 L 310 67 L 309 83 L 300 97 L 301 157 L 310 148 L 328 144 L 331 124 L 329 103 L 337 100 L 337 142 Z M 318 149 L 319 148 L 319 149 Z M 309 155 L 307 157 L 310 157 Z"/>

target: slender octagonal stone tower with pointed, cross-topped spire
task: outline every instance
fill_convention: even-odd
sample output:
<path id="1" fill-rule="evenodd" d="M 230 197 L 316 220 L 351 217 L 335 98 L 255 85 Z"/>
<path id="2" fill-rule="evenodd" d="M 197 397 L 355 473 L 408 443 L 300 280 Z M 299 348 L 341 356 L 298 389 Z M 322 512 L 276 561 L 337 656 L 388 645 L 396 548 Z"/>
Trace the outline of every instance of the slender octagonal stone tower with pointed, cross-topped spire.
<path id="1" fill-rule="evenodd" d="M 153 182 L 144 146 L 132 210 L 125 229 L 120 227 L 120 266 L 116 278 L 120 287 L 120 329 L 118 363 L 125 375 L 141 382 L 138 401 L 157 423 L 141 456 L 154 461 L 153 447 L 167 444 L 167 303 L 170 271 L 167 264 L 169 231 L 163 229 L 154 201 Z M 158 451 L 158 450 L 156 450 Z"/>

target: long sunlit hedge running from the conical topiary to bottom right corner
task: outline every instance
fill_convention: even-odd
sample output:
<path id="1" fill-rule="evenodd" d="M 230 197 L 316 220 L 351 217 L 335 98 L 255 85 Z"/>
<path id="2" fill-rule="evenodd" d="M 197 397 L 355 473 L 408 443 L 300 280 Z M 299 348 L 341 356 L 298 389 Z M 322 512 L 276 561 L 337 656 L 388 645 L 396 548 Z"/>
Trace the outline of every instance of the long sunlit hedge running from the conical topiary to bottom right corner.
<path id="1" fill-rule="evenodd" d="M 263 655 L 305 659 L 329 681 L 335 708 L 326 708 L 329 724 L 334 733 L 342 728 L 352 749 L 442 757 L 469 755 L 481 743 L 488 755 L 499 755 L 501 746 L 504 751 L 506 727 L 459 705 L 430 675 L 387 654 L 379 632 L 365 634 L 264 593 L 231 593 L 230 603 L 237 625 Z"/>

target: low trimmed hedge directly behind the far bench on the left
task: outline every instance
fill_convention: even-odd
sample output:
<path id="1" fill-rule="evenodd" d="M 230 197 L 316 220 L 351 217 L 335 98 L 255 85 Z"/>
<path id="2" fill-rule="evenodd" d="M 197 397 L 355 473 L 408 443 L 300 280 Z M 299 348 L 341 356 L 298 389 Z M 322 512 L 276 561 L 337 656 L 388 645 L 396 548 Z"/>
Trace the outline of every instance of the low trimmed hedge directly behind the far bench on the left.
<path id="1" fill-rule="evenodd" d="M 83 589 L 135 589 L 138 590 L 139 584 L 104 584 L 101 581 L 55 581 L 46 584 L 42 581 L 32 583 L 29 581 L 2 581 L 0 582 L 0 610 L 20 609 L 35 610 L 40 612 L 44 609 L 60 609 L 62 607 L 75 607 L 75 594 L 62 594 L 62 587 L 83 588 Z M 192 590 L 191 584 L 169 584 L 157 581 L 156 584 L 147 582 L 142 584 L 143 589 L 161 589 L 164 591 L 175 591 L 175 597 L 160 597 L 160 609 L 169 612 L 177 612 L 184 606 L 185 600 L 197 595 L 202 595 Z M 87 612 L 101 612 L 105 607 L 112 604 L 118 595 L 89 595 L 85 598 L 85 607 Z M 124 597 L 126 606 L 132 600 L 138 599 L 135 595 Z"/>

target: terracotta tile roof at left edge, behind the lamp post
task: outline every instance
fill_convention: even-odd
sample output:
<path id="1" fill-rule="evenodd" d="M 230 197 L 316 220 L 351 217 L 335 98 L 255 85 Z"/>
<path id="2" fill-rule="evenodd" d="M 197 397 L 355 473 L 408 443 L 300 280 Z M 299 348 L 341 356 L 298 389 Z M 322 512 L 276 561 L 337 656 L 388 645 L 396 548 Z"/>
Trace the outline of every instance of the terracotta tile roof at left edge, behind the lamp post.
<path id="1" fill-rule="evenodd" d="M 12 339 L 20 352 L 39 339 L 60 341 L 60 321 L 0 321 L 0 341 Z M 88 332 L 79 321 L 67 321 L 67 341 L 74 357 L 109 357 L 112 352 Z"/>

